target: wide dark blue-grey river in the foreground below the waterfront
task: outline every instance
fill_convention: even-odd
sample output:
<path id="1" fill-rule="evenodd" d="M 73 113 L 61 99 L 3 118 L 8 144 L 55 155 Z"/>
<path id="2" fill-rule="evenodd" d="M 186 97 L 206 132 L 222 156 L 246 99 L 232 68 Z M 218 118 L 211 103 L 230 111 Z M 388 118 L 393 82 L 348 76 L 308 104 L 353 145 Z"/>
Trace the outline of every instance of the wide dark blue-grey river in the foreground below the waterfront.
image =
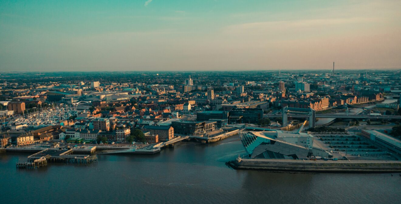
<path id="1" fill-rule="evenodd" d="M 99 155 L 89 165 L 16 170 L 28 154 L 0 154 L 4 204 L 57 203 L 401 203 L 399 174 L 301 174 L 233 170 L 239 136 L 183 142 L 156 155 Z"/>

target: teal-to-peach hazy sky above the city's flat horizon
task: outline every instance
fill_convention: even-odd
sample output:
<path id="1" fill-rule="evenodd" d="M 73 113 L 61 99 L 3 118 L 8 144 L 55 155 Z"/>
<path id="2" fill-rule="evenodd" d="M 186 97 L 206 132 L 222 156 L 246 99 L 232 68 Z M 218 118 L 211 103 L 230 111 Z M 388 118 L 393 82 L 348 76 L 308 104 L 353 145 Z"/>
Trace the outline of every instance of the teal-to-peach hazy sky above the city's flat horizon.
<path id="1" fill-rule="evenodd" d="M 0 0 L 0 72 L 401 68 L 400 0 Z"/>

